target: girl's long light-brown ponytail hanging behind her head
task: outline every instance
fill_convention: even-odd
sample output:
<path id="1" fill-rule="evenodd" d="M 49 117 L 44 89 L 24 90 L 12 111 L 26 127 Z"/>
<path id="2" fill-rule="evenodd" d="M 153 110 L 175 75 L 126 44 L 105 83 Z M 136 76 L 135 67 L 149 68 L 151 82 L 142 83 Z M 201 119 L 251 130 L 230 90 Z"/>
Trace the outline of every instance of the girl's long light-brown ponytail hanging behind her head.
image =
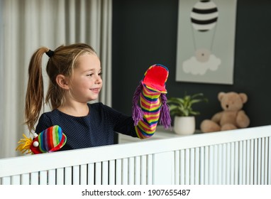
<path id="1" fill-rule="evenodd" d="M 25 117 L 29 131 L 34 130 L 38 121 L 40 110 L 43 107 L 43 74 L 42 58 L 48 48 L 38 48 L 32 55 L 28 67 L 28 87 L 26 90 Z"/>

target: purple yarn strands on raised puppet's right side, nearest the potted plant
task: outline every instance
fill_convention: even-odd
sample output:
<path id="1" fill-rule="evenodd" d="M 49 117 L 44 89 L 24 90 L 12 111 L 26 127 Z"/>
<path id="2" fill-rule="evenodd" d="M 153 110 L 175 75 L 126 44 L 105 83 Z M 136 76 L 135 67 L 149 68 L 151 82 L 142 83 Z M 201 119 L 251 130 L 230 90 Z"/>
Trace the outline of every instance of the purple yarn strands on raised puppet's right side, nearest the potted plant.
<path id="1" fill-rule="evenodd" d="M 167 97 L 165 96 L 165 93 L 162 93 L 161 95 L 161 112 L 160 112 L 160 124 L 164 126 L 165 129 L 170 129 L 171 127 L 171 117 L 170 117 L 170 107 L 167 104 Z"/>

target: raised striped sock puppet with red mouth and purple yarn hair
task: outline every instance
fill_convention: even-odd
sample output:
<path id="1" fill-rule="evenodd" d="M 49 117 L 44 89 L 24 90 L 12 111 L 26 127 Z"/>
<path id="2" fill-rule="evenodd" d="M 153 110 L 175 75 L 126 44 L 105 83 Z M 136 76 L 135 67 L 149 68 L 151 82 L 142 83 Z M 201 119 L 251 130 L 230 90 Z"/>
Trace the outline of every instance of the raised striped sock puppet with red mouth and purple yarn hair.
<path id="1" fill-rule="evenodd" d="M 133 96 L 133 121 L 140 139 L 154 134 L 159 119 L 165 129 L 170 127 L 170 111 L 165 97 L 168 74 L 164 65 L 152 65 L 136 89 Z"/>

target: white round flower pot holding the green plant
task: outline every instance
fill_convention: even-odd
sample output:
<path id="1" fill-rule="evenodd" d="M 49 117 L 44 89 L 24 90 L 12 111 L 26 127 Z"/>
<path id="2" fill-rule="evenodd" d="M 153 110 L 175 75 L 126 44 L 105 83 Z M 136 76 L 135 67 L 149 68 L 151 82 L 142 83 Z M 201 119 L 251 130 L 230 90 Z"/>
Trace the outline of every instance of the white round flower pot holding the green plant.
<path id="1" fill-rule="evenodd" d="M 179 135 L 194 134 L 196 130 L 196 121 L 194 116 L 174 118 L 174 131 Z"/>

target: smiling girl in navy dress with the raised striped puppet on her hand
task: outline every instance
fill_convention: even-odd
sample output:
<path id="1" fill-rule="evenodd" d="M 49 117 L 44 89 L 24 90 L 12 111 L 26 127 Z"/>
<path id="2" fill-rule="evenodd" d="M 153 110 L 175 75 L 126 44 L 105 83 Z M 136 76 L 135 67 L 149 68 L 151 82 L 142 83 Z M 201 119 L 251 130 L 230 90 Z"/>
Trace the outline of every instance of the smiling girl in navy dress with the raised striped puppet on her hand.
<path id="1" fill-rule="evenodd" d="M 45 102 L 50 104 L 52 111 L 40 115 L 44 100 L 44 53 L 49 57 L 46 71 L 50 78 Z M 160 74 L 156 74 L 157 71 Z M 57 148 L 61 148 L 60 151 L 114 144 L 114 132 L 140 139 L 148 138 L 157 127 L 161 101 L 166 106 L 165 82 L 168 70 L 162 65 L 153 65 L 145 73 L 145 82 L 143 80 L 140 83 L 133 98 L 133 117 L 121 114 L 101 102 L 89 104 L 89 101 L 99 96 L 103 81 L 100 60 L 94 49 L 84 43 L 62 45 L 54 51 L 38 48 L 31 58 L 28 75 L 25 107 L 28 129 L 40 134 L 51 127 L 60 127 L 57 131 L 61 130 L 65 134 L 65 141 Z M 140 102 L 139 108 L 137 100 Z M 163 121 L 167 121 L 163 124 L 169 127 L 168 113 L 164 115 L 167 118 Z M 38 124 L 34 127 L 36 122 Z M 49 149 L 44 150 L 50 152 Z"/>

